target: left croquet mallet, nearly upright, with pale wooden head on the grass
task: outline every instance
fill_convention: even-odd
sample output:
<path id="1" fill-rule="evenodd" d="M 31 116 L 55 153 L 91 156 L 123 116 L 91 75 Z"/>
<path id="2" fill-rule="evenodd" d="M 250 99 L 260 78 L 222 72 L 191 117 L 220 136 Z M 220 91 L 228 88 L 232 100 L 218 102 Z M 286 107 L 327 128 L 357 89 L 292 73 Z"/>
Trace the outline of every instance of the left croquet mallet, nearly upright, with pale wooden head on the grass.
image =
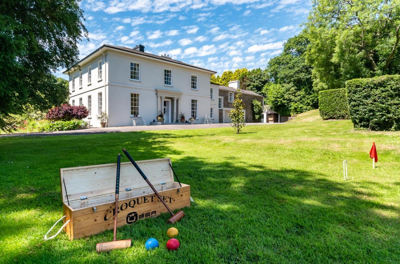
<path id="1" fill-rule="evenodd" d="M 131 245 L 130 239 L 117 240 L 117 219 L 118 219 L 118 194 L 120 192 L 120 167 L 121 154 L 118 154 L 117 160 L 117 182 L 115 186 L 115 212 L 114 212 L 114 240 L 110 242 L 102 242 L 96 244 L 96 252 L 107 252 L 113 249 L 124 249 Z"/>

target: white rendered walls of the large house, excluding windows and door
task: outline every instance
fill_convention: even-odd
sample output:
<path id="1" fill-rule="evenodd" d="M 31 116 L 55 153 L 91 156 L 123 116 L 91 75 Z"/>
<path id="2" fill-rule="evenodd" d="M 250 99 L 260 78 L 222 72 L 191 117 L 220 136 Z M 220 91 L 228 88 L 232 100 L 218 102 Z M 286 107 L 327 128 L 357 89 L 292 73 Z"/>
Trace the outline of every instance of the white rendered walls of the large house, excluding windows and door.
<path id="1" fill-rule="evenodd" d="M 90 63 L 81 65 L 82 89 L 79 89 L 79 70 L 70 74 L 70 104 L 75 100 L 79 104 L 82 97 L 83 105 L 88 107 L 88 95 L 92 96 L 92 115 L 90 124 L 97 127 L 100 122 L 98 114 L 98 93 L 102 92 L 102 110 L 108 113 L 108 126 L 130 126 L 133 124 L 130 116 L 130 94 L 140 94 L 140 116 L 148 125 L 157 116 L 156 89 L 178 93 L 181 99 L 181 109 L 186 114 L 186 120 L 191 116 L 191 100 L 198 100 L 198 118 L 195 123 L 202 123 L 205 116 L 210 116 L 210 107 L 214 108 L 214 122 L 218 122 L 218 89 L 214 89 L 214 99 L 210 100 L 210 73 L 190 69 L 185 66 L 171 64 L 165 61 L 154 61 L 139 57 L 132 53 L 119 51 L 103 51 L 105 55 L 98 56 Z M 102 80 L 98 81 L 98 61 L 102 60 Z M 130 63 L 140 63 L 140 81 L 130 80 Z M 92 67 L 92 83 L 88 85 L 88 66 Z M 172 70 L 172 86 L 164 85 L 164 69 Z M 198 90 L 191 89 L 191 76 L 197 75 Z M 75 91 L 72 92 L 72 76 L 75 75 Z M 167 96 L 169 98 L 169 95 Z M 160 103 L 159 103 L 160 104 Z M 171 100 L 171 112 L 174 100 Z M 179 105 L 179 104 L 178 104 Z M 161 107 L 161 106 L 159 106 Z M 179 116 L 178 116 L 179 119 Z"/>

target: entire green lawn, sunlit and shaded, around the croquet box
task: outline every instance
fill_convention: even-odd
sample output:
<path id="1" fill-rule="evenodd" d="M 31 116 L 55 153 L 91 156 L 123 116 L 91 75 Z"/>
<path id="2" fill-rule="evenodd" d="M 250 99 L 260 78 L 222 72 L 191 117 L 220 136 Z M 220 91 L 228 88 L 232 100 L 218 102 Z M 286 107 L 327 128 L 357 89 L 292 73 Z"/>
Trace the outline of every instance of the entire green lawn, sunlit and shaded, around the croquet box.
<path id="1" fill-rule="evenodd" d="M 136 160 L 172 158 L 191 185 L 195 203 L 175 225 L 181 248 L 165 248 L 168 215 L 119 228 L 117 239 L 132 239 L 126 250 L 96 253 L 112 231 L 74 241 L 62 232 L 44 241 L 62 216 L 58 170 L 115 162 L 122 148 Z M 5 263 L 400 263 L 399 132 L 299 116 L 246 126 L 242 134 L 218 128 L 0 138 L 0 150 Z M 148 252 L 150 237 L 161 246 Z"/>

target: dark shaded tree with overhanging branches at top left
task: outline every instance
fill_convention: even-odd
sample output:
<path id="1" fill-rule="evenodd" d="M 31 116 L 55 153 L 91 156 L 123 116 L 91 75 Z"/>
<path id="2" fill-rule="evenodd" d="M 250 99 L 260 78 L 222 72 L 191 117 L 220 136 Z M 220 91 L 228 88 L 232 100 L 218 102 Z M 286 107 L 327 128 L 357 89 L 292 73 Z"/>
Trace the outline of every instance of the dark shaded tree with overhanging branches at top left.
<path id="1" fill-rule="evenodd" d="M 0 115 L 65 100 L 51 73 L 78 61 L 77 43 L 87 37 L 80 0 L 2 1 L 0 21 Z"/>

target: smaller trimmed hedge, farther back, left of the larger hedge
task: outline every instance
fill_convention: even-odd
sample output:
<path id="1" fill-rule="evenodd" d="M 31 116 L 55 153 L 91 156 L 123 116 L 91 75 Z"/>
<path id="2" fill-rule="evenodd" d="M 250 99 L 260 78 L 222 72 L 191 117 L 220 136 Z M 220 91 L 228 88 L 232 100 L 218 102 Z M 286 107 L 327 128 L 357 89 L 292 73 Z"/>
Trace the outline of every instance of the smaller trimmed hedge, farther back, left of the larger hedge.
<path id="1" fill-rule="evenodd" d="M 319 108 L 322 119 L 349 119 L 345 88 L 320 91 Z"/>

